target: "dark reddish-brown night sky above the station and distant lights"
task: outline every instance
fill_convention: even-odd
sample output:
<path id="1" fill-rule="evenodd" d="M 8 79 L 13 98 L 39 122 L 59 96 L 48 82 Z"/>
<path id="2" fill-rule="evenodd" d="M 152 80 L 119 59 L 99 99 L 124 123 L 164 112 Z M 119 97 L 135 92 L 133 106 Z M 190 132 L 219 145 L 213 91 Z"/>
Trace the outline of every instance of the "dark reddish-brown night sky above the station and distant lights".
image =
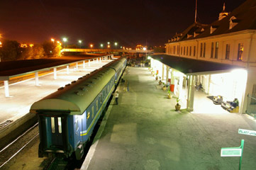
<path id="1" fill-rule="evenodd" d="M 218 19 L 223 3 L 233 11 L 245 0 L 198 0 L 198 21 Z M 118 42 L 164 45 L 176 32 L 194 23 L 195 0 L 95 1 L 0 0 L 2 38 L 40 43 L 50 38 L 82 45 Z"/>

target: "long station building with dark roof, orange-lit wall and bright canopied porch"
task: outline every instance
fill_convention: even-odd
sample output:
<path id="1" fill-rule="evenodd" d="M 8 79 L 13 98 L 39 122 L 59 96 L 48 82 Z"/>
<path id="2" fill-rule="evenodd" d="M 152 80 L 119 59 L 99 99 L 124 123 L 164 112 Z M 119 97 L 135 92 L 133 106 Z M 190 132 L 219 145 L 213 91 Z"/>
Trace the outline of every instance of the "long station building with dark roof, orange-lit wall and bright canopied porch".
<path id="1" fill-rule="evenodd" d="M 151 67 L 175 96 L 195 111 L 195 98 L 238 98 L 238 113 L 256 113 L 256 1 L 228 13 L 223 5 L 213 23 L 193 23 L 166 43 L 166 53 L 152 55 Z M 201 84 L 203 89 L 196 91 Z M 199 101 L 199 100 L 197 100 Z M 201 102 L 201 101 L 200 101 Z M 214 104 L 213 104 L 214 105 Z M 219 106 L 221 107 L 221 106 Z M 211 109 L 211 108 L 206 108 Z"/>

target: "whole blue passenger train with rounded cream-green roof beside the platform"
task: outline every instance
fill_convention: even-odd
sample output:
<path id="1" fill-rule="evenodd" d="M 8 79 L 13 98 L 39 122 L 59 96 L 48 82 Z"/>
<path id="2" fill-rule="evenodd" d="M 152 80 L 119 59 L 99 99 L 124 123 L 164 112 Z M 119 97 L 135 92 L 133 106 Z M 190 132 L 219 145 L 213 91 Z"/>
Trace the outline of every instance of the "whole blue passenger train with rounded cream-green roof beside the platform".
<path id="1" fill-rule="evenodd" d="M 40 135 L 38 157 L 82 158 L 126 63 L 125 57 L 114 60 L 33 103 L 30 113 L 38 116 Z"/>

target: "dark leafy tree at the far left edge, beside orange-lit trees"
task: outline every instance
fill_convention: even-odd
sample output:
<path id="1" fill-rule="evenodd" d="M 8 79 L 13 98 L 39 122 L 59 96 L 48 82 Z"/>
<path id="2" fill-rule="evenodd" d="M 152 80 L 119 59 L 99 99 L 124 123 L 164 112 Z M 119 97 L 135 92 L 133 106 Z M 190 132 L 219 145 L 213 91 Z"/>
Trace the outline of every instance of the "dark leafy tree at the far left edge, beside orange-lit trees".
<path id="1" fill-rule="evenodd" d="M 17 60 L 21 55 L 20 44 L 15 40 L 4 40 L 0 47 L 1 61 Z"/>

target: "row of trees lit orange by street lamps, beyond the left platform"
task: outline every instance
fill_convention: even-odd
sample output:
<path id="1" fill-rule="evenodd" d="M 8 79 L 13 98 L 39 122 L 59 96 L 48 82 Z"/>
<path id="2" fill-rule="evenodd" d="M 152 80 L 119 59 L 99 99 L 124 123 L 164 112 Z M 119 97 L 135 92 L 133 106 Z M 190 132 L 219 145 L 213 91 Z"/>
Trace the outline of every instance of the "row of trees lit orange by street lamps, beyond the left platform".
<path id="1" fill-rule="evenodd" d="M 33 47 L 21 47 L 16 40 L 3 40 L 0 47 L 1 61 L 30 60 L 44 57 L 59 57 L 61 46 L 57 43 L 45 41 Z"/>

